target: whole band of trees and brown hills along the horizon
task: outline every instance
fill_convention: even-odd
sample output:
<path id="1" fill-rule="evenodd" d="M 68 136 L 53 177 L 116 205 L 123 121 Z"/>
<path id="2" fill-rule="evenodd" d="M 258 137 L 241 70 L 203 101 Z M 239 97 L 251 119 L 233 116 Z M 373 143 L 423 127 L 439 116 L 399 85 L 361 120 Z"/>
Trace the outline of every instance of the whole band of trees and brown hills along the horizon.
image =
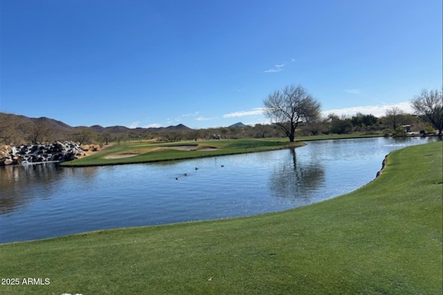
<path id="1" fill-rule="evenodd" d="M 255 126 L 219 127 L 208 129 L 123 129 L 96 131 L 91 127 L 66 127 L 62 122 L 0 113 L 0 144 L 35 144 L 72 140 L 80 144 L 109 144 L 129 140 L 181 140 L 287 137 L 293 141 L 298 136 L 320 134 L 366 133 L 401 136 L 406 125 L 415 133 L 430 134 L 437 130 L 442 134 L 442 91 L 424 90 L 411 100 L 415 113 L 404 113 L 397 107 L 390 108 L 381 117 L 356 113 L 351 116 L 331 113 L 320 115 L 320 102 L 302 86 L 291 85 L 274 91 L 264 99 L 264 115 L 271 124 Z M 54 125 L 55 124 L 55 125 Z"/>

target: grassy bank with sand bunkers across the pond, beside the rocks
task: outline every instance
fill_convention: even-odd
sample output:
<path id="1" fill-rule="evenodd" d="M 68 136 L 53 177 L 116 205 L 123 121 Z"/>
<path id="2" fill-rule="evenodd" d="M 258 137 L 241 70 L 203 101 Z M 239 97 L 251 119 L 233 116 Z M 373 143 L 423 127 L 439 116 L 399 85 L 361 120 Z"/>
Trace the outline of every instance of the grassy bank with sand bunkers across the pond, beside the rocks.
<path id="1" fill-rule="evenodd" d="M 192 146 L 192 151 L 173 149 L 174 146 Z M 291 146 L 300 146 L 302 143 L 290 143 L 284 138 L 273 139 L 242 139 L 242 140 L 206 140 L 173 143 L 155 142 L 128 142 L 104 149 L 88 157 L 64 162 L 63 166 L 98 166 L 114 164 L 133 164 L 143 162 L 159 162 L 165 160 L 184 160 L 192 158 L 213 157 L 216 155 L 231 155 L 235 153 L 253 153 L 286 149 Z M 204 151 L 204 148 L 213 148 Z M 163 148 L 163 150 L 161 149 Z M 164 149 L 170 148 L 170 149 Z M 109 155 L 136 153 L 130 158 L 107 159 Z"/>

